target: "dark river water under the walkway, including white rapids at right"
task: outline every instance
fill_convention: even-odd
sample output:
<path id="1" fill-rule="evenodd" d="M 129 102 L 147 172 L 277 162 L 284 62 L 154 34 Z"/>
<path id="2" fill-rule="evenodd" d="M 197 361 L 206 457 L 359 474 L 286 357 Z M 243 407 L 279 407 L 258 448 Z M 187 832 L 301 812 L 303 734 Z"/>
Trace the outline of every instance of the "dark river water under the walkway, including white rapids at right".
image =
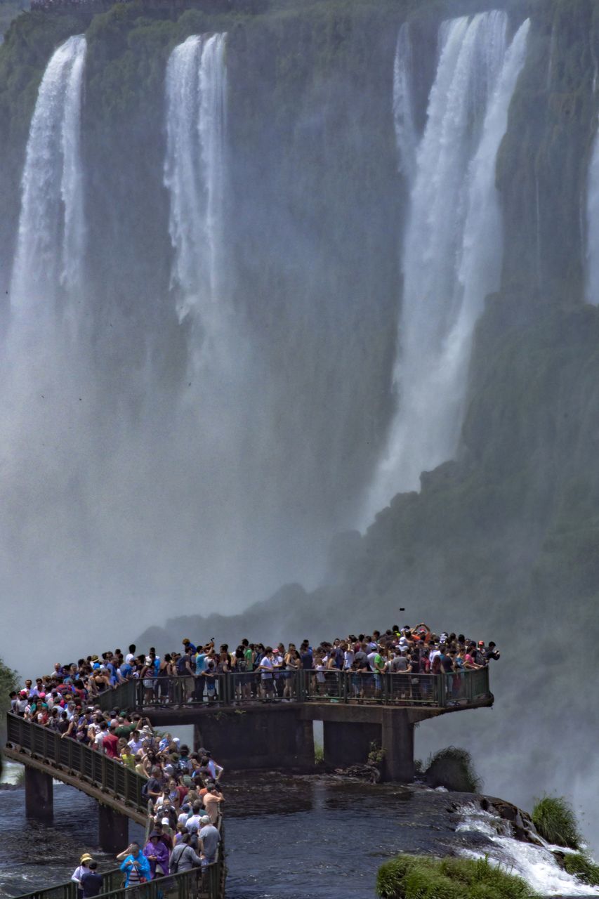
<path id="1" fill-rule="evenodd" d="M 6 766 L 10 779 L 18 766 Z M 377 869 L 399 851 L 483 856 L 509 866 L 545 896 L 599 895 L 564 874 L 548 850 L 508 835 L 468 794 L 335 776 L 280 773 L 228 778 L 228 899 L 373 899 Z M 55 783 L 54 821 L 24 816 L 24 792 L 0 790 L 0 896 L 67 880 L 90 850 L 101 868 L 95 802 Z M 130 825 L 131 839 L 141 829 Z"/>

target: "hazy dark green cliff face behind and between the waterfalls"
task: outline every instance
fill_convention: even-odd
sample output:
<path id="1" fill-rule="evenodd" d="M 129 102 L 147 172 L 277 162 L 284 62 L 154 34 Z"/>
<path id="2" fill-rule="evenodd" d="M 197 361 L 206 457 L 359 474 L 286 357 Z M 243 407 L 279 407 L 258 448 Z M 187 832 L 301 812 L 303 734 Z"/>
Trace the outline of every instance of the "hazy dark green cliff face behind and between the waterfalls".
<path id="1" fill-rule="evenodd" d="M 408 195 L 390 111 L 398 29 L 409 20 L 422 128 L 440 22 L 494 5 L 509 13 L 512 33 L 530 16 L 531 32 L 496 165 L 501 287 L 478 321 L 460 447 L 456 458 L 423 474 L 420 493 L 389 497 L 365 533 L 344 531 L 356 521 L 397 403 L 391 371 Z M 148 639 L 160 643 L 167 634 L 178 641 L 192 627 L 198 636 L 210 631 L 231 642 L 242 631 L 317 636 L 323 628 L 390 625 L 403 614 L 399 606 L 410 620 L 463 626 L 472 636 L 495 638 L 503 650 L 494 691 L 503 734 L 514 743 L 498 755 L 495 726 L 487 722 L 475 733 L 473 723 L 470 733 L 487 760 L 477 758 L 489 788 L 527 805 L 528 794 L 547 782 L 544 772 L 554 769 L 559 789 L 576 770 L 576 790 L 577 778 L 582 783 L 595 766 L 578 737 L 586 735 L 597 681 L 585 660 L 596 642 L 599 583 L 599 313 L 584 302 L 597 4 L 323 0 L 227 12 L 136 0 L 103 13 L 81 7 L 23 15 L 0 50 L 4 290 L 43 68 L 61 40 L 84 31 L 88 314 L 103 358 L 98 382 L 119 396 L 133 422 L 145 414 L 138 381 L 148 359 L 153 383 L 171 398 L 187 382 L 188 334 L 174 304 L 164 301 L 172 265 L 163 184 L 165 66 L 189 35 L 227 31 L 230 299 L 260 361 L 255 394 L 264 405 L 250 405 L 246 414 L 268 435 L 264 443 L 254 433 L 238 453 L 265 459 L 252 485 L 255 507 L 275 485 L 281 530 L 299 533 L 296 542 L 323 547 L 327 535 L 340 532 L 316 591 L 285 587 L 243 616 L 176 619 L 166 633 L 148 631 Z M 123 324 L 120 343 L 103 353 L 113 314 Z M 123 393 L 131 378 L 137 387 Z M 237 494 L 248 490 L 242 478 Z M 183 494 L 175 492 L 182 502 Z M 217 496 L 219 503 L 228 497 Z M 191 513 L 184 521 L 193 530 Z M 251 509 L 242 521 L 252 521 Z M 235 556 L 235 530 L 222 532 Z M 176 569 L 180 546 L 167 541 L 166 549 Z M 192 566 L 181 567 L 189 581 Z M 263 583 L 276 583 L 279 570 L 310 571 L 305 558 L 291 569 L 273 565 Z M 158 583 L 164 587 L 169 576 Z M 148 584 L 148 592 L 158 589 Z M 252 589 L 257 595 L 255 583 Z M 191 610 L 193 588 L 180 592 Z M 448 734 L 459 742 L 451 728 L 463 726 L 440 723 L 435 739 Z M 568 740 L 565 763 L 563 744 L 552 737 L 568 730 L 577 739 Z M 534 734 L 524 759 L 515 735 L 523 733 Z M 516 757 L 518 789 L 529 785 L 524 799 L 511 789 Z"/>

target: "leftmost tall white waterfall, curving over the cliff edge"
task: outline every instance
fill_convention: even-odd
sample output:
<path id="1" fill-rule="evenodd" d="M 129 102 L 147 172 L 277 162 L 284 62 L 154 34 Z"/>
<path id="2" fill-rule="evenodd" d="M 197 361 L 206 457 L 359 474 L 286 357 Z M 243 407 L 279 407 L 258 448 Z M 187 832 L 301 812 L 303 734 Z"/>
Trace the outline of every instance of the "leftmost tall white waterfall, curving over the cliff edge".
<path id="1" fill-rule="evenodd" d="M 62 44 L 40 84 L 22 174 L 22 204 L 11 281 L 16 308 L 43 304 L 82 284 L 85 250 L 80 118 L 85 37 Z M 59 135 L 59 139 L 57 139 Z"/>

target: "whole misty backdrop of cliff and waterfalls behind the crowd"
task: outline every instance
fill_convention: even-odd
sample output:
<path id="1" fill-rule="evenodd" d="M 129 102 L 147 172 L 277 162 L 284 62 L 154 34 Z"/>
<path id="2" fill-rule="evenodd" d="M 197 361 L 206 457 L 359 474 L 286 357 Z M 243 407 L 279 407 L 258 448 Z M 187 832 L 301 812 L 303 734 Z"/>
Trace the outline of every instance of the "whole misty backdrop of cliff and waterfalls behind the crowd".
<path id="1" fill-rule="evenodd" d="M 503 656 L 417 753 L 597 850 L 596 14 L 259 5 L 0 49 L 4 662 L 404 606 Z"/>

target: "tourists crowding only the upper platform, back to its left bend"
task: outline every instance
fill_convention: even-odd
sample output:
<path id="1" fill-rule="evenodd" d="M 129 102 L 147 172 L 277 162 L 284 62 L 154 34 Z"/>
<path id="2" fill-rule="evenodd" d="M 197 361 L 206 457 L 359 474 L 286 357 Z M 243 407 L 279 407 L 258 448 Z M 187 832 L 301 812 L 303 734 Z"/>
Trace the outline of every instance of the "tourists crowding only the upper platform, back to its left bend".
<path id="1" fill-rule="evenodd" d="M 194 645 L 183 639 L 181 651 L 159 655 L 155 647 L 148 654 L 138 654 L 137 647 L 88 655 L 76 663 L 56 663 L 54 671 L 35 682 L 25 681 L 11 696 L 12 710 L 17 715 L 48 726 L 64 736 L 75 737 L 105 752 L 116 752 L 110 724 L 100 734 L 90 730 L 94 702 L 105 690 L 134 680 L 142 685 L 144 705 L 168 704 L 175 699 L 184 702 L 215 702 L 219 699 L 219 675 L 231 675 L 234 701 L 262 699 L 282 701 L 295 698 L 295 672 L 307 672 L 305 687 L 314 693 L 330 694 L 338 682 L 338 672 L 351 673 L 351 698 L 376 699 L 386 674 L 399 675 L 398 690 L 404 697 L 414 697 L 411 684 L 418 684 L 418 695 L 425 695 L 425 679 L 421 674 L 454 674 L 485 668 L 499 658 L 496 644 L 466 638 L 463 634 L 435 634 L 425 622 L 415 628 L 388 628 L 384 633 L 336 637 L 333 642 L 311 645 L 280 643 L 276 646 L 250 643 L 244 638 L 235 650 L 222 644 L 217 649 L 213 639 Z M 411 677 L 407 677 L 411 675 Z M 402 687 L 402 678 L 406 686 Z M 179 680 L 184 679 L 184 680 Z M 458 684 L 459 677 L 449 679 Z M 410 693 L 410 690 L 412 692 Z M 398 696 L 401 698 L 402 693 Z M 104 733 L 106 732 L 106 733 Z M 104 745 L 105 738 L 108 741 Z"/>

